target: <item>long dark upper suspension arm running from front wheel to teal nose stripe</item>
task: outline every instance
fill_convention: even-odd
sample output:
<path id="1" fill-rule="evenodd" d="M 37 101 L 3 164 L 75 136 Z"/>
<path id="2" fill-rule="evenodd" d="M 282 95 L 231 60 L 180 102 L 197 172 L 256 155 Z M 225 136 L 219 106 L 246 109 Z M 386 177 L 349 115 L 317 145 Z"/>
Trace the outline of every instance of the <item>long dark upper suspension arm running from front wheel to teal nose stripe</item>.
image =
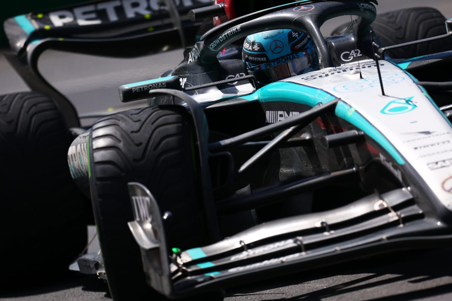
<path id="1" fill-rule="evenodd" d="M 303 112 L 299 115 L 292 116 L 287 118 L 286 120 L 282 120 L 278 123 L 273 123 L 271 125 L 266 125 L 256 130 L 252 130 L 245 134 L 241 134 L 229 139 L 217 141 L 209 144 L 209 151 L 211 153 L 217 153 L 226 150 L 227 148 L 231 148 L 233 146 L 244 144 L 246 142 L 253 141 L 255 139 L 259 139 L 269 134 L 273 134 L 279 130 L 284 130 L 289 127 L 300 125 L 305 122 L 305 120 L 315 120 L 315 118 L 321 116 L 322 114 L 334 111 L 336 105 L 338 104 L 338 99 L 335 99 L 331 102 L 323 104 L 321 106 L 315 106 L 311 110 Z"/>

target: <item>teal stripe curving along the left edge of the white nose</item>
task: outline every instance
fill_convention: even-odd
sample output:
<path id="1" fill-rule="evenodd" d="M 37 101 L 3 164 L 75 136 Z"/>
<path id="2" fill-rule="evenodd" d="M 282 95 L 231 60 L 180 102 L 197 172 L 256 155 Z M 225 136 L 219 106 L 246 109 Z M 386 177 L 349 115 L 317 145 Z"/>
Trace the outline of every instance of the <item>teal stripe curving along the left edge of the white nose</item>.
<path id="1" fill-rule="evenodd" d="M 297 83 L 276 82 L 270 83 L 250 95 L 241 96 L 247 100 L 259 100 L 260 102 L 295 102 L 314 107 L 318 103 L 327 103 L 337 99 L 333 95 L 318 88 L 303 86 Z M 348 121 L 358 129 L 363 130 L 369 137 L 377 141 L 399 164 L 405 164 L 405 160 L 394 146 L 361 114 L 339 101 L 336 107 L 336 116 Z"/>

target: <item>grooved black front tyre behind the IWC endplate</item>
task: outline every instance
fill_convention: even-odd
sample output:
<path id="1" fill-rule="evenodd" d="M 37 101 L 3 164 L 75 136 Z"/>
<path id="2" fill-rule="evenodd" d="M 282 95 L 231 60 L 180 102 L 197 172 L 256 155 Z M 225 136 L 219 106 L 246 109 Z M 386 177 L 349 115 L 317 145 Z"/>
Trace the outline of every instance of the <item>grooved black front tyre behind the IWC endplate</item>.
<path id="1" fill-rule="evenodd" d="M 200 218 L 198 159 L 193 122 L 184 107 L 147 107 L 98 120 L 90 134 L 90 186 L 108 286 L 115 301 L 146 300 L 140 250 L 127 222 L 133 220 L 127 182 L 154 195 L 169 250 L 207 243 Z"/>

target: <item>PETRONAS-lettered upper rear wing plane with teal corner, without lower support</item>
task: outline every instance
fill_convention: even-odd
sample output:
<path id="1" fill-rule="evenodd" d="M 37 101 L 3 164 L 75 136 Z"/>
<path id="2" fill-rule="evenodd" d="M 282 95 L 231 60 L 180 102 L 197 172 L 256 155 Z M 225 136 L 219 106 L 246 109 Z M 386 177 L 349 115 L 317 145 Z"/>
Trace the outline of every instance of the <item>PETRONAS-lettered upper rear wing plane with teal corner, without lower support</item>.
<path id="1" fill-rule="evenodd" d="M 146 49 L 131 52 L 131 45 L 127 45 L 131 40 L 139 40 L 141 45 L 144 41 L 152 41 L 149 43 L 152 46 L 185 46 L 185 36 L 194 37 L 194 34 L 189 33 L 202 22 L 189 20 L 186 17 L 188 11 L 212 2 L 100 0 L 19 15 L 7 19 L 4 28 L 12 50 L 18 54 L 27 51 L 28 45 L 45 40 L 54 42 L 54 47 L 76 52 L 134 56 L 146 53 Z M 170 39 L 169 33 L 173 34 Z M 159 34 L 165 34 L 161 42 L 157 42 L 156 36 Z M 100 47 L 102 49 L 99 50 L 98 46 L 103 43 L 109 47 Z"/>

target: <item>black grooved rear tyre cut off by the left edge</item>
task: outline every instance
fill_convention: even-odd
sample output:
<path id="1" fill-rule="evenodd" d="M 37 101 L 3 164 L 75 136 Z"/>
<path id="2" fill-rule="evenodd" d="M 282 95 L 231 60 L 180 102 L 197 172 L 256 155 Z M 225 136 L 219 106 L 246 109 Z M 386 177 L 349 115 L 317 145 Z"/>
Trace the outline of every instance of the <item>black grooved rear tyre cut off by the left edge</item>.
<path id="1" fill-rule="evenodd" d="M 0 258 L 11 285 L 61 277 L 86 245 L 83 196 L 67 164 L 71 141 L 46 95 L 0 96 Z"/>

